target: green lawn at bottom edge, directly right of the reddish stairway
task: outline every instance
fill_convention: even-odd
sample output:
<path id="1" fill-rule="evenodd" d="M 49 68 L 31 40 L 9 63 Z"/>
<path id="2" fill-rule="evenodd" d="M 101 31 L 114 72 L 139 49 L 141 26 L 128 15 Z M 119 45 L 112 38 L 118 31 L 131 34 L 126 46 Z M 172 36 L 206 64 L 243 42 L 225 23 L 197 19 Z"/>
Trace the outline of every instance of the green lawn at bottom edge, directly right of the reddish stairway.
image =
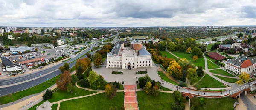
<path id="1" fill-rule="evenodd" d="M 137 99 L 140 110 L 171 110 L 171 103 L 175 102 L 173 93 L 160 92 L 159 96 L 137 91 Z"/>

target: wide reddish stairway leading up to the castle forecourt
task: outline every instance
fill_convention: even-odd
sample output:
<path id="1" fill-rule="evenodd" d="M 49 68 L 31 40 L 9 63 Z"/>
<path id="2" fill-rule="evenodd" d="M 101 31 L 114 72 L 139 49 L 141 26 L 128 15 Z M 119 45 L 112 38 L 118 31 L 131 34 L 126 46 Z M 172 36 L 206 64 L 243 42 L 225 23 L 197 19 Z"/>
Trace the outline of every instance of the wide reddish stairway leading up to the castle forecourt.
<path id="1" fill-rule="evenodd" d="M 124 85 L 125 88 L 125 110 L 139 110 L 137 103 L 137 85 Z"/>

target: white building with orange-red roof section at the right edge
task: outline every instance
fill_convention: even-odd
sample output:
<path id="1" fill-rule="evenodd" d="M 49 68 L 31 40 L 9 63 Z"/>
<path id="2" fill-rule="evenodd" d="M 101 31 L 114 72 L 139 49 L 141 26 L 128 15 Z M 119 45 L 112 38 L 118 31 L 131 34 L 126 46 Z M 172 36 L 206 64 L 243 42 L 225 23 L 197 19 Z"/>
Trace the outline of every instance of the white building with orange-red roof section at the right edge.
<path id="1" fill-rule="evenodd" d="M 227 61 L 225 69 L 228 69 L 236 74 L 241 74 L 246 72 L 247 74 L 253 73 L 256 71 L 256 59 L 239 56 Z"/>

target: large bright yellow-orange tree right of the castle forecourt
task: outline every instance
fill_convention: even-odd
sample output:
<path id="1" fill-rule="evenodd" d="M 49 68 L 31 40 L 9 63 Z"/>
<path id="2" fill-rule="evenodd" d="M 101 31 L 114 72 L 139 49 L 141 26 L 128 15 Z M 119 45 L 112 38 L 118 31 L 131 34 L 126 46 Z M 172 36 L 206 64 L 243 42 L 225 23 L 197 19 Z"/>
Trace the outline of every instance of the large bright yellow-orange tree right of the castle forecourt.
<path id="1" fill-rule="evenodd" d="M 167 74 L 172 75 L 177 80 L 180 80 L 182 78 L 181 66 L 175 60 L 170 61 L 170 65 L 167 68 Z"/>

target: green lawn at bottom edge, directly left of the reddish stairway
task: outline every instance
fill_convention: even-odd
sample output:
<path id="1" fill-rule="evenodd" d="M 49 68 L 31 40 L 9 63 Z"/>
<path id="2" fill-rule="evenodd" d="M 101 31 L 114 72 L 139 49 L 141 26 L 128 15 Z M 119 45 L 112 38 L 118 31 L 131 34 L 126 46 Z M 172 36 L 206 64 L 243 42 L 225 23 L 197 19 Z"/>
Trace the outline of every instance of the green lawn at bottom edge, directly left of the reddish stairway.
<path id="1" fill-rule="evenodd" d="M 109 99 L 105 93 L 100 93 L 94 96 L 73 99 L 61 102 L 60 110 L 109 110 L 111 106 L 116 106 L 118 109 L 124 104 L 124 92 L 117 92 L 116 97 Z"/>

